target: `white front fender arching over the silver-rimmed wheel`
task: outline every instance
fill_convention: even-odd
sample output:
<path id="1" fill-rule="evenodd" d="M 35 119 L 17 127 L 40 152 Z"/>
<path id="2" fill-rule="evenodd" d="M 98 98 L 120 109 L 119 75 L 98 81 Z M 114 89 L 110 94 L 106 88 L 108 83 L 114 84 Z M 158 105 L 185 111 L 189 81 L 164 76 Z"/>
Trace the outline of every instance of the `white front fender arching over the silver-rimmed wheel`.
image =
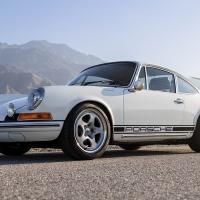
<path id="1" fill-rule="evenodd" d="M 65 120 L 78 104 L 93 101 L 104 105 L 113 124 L 123 123 L 123 90 L 119 88 L 51 86 L 45 87 L 45 98 L 34 112 L 51 112 L 54 120 Z"/>

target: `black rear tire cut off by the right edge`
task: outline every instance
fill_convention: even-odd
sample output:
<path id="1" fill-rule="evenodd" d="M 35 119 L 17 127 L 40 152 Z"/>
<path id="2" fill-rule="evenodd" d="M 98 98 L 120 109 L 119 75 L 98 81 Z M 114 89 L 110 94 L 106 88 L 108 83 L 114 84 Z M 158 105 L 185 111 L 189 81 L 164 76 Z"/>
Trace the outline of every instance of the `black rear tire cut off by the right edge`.
<path id="1" fill-rule="evenodd" d="M 188 144 L 193 151 L 200 152 L 200 120 L 198 120 L 194 134 Z"/>

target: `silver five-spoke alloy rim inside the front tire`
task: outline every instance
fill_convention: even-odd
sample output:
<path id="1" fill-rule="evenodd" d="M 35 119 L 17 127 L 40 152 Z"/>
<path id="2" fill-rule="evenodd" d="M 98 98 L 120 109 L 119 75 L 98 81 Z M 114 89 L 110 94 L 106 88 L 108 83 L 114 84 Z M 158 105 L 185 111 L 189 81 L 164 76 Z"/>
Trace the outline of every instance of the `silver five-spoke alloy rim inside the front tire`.
<path id="1" fill-rule="evenodd" d="M 74 134 L 77 145 L 86 153 L 96 153 L 107 138 L 103 115 L 95 109 L 86 109 L 76 118 Z"/>

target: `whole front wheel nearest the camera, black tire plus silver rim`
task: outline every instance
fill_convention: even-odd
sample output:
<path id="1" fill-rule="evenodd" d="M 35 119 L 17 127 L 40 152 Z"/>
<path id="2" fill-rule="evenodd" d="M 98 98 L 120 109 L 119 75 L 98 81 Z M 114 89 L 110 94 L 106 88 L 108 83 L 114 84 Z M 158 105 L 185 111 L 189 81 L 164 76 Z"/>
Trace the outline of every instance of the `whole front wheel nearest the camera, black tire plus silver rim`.
<path id="1" fill-rule="evenodd" d="M 94 159 L 106 150 L 111 135 L 105 112 L 94 104 L 83 104 L 71 112 L 64 124 L 60 144 L 76 159 Z"/>

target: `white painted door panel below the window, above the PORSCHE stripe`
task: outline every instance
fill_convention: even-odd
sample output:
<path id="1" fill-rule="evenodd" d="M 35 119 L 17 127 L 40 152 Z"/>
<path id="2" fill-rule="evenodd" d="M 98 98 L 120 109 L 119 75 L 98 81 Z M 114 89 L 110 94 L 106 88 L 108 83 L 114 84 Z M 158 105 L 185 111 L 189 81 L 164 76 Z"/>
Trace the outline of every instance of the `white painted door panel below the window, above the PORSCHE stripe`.
<path id="1" fill-rule="evenodd" d="M 159 91 L 143 90 L 129 93 L 126 90 L 124 93 L 124 123 L 182 125 L 184 104 L 174 103 L 179 96 L 179 94 Z"/>

